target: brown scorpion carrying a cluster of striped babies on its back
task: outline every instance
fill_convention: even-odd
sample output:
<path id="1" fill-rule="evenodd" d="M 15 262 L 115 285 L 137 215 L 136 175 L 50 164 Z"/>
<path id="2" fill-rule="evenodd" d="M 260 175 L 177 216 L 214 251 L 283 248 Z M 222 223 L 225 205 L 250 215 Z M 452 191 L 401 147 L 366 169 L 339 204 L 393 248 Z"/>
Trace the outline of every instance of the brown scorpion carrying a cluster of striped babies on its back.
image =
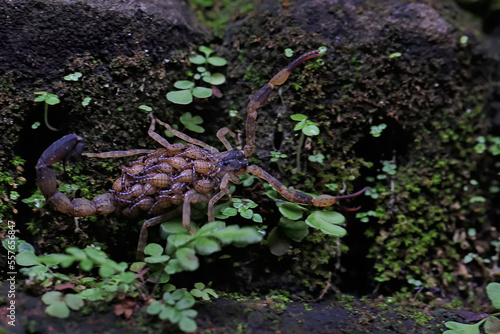
<path id="1" fill-rule="evenodd" d="M 319 50 L 303 54 L 253 95 L 246 109 L 246 145 L 242 151 L 233 149 L 225 136 L 230 135 L 236 141 L 236 135 L 226 127 L 217 132 L 217 138 L 224 144 L 227 151 L 219 152 L 215 147 L 173 129 L 150 114 L 151 125 L 148 135 L 162 148 L 83 153 L 84 139 L 75 134 L 66 135 L 50 145 L 38 160 L 36 172 L 40 190 L 47 202 L 56 210 L 75 217 L 105 215 L 115 211 L 126 217 L 136 217 L 141 213 L 153 217 L 147 219 L 142 225 L 137 246 L 139 252 L 142 252 L 146 246 L 148 227 L 171 219 L 180 212 L 181 205 L 182 224 L 188 230 L 190 230 L 192 203 L 208 202 L 208 221 L 214 221 L 215 203 L 224 195 L 231 199 L 229 183 L 238 184 L 238 175 L 255 175 L 266 180 L 288 201 L 316 207 L 332 206 L 341 199 L 358 196 L 365 189 L 344 196 L 310 196 L 288 189 L 261 167 L 248 163 L 248 157 L 255 149 L 257 109 L 264 105 L 275 86 L 282 85 L 288 79 L 295 67 L 320 56 Z M 186 143 L 169 143 L 155 132 L 156 123 L 164 126 Z M 122 175 L 116 179 L 112 189 L 108 193 L 96 196 L 92 201 L 84 198 L 71 201 L 57 189 L 55 173 L 49 168 L 63 159 L 80 155 L 116 158 L 137 154 L 146 155 L 131 162 L 128 167 L 122 166 Z M 177 206 L 177 208 L 170 210 L 171 206 Z"/>

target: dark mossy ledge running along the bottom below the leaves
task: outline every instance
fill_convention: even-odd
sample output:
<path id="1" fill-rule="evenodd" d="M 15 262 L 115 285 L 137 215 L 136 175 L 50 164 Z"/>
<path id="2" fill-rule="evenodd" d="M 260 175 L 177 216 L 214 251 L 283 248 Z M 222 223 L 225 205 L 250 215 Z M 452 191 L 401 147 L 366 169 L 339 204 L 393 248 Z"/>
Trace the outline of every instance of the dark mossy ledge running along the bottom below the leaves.
<path id="1" fill-rule="evenodd" d="M 0 288 L 2 296 L 6 286 Z M 94 306 L 90 314 L 77 312 L 69 318 L 48 317 L 38 297 L 20 292 L 16 296 L 18 313 L 16 327 L 2 319 L 0 333 L 178 333 L 175 326 L 151 319 L 146 307 L 134 312 L 130 319 L 117 317 L 109 305 Z M 439 307 L 419 305 L 387 306 L 385 302 L 360 301 L 328 294 L 320 301 L 277 302 L 274 298 L 221 297 L 196 307 L 198 333 L 303 333 L 303 334 L 417 334 L 442 333 L 443 322 L 477 321 L 485 314 L 459 316 L 457 312 Z M 459 312 L 460 313 L 460 312 Z M 465 314 L 465 312 L 463 312 Z M 5 315 L 2 315 L 4 317 Z"/>

